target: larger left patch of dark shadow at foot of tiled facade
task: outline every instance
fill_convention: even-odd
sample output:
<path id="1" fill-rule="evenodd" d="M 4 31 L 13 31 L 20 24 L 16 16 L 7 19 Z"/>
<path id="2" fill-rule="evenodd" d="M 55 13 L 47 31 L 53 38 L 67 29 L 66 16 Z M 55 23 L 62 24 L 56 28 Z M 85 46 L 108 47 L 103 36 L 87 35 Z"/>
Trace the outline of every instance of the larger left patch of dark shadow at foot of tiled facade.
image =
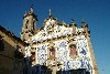
<path id="1" fill-rule="evenodd" d="M 23 74 L 52 74 L 52 70 L 47 68 L 45 65 L 40 64 L 32 66 L 30 57 L 25 57 Z"/>

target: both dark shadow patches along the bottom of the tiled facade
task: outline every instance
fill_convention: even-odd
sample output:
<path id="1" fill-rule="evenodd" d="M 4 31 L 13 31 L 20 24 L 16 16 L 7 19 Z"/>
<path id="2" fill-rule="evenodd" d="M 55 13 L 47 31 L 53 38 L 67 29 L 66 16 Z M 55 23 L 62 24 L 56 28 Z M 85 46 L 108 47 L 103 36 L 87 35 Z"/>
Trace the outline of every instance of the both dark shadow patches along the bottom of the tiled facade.
<path id="1" fill-rule="evenodd" d="M 24 70 L 23 74 L 53 74 L 53 70 L 47 68 L 45 65 L 34 65 L 31 66 L 31 61 L 30 57 L 24 59 Z M 90 72 L 87 72 L 86 68 L 79 68 L 79 70 L 68 70 L 68 71 L 63 71 L 59 70 L 56 72 L 56 74 L 90 74 Z"/>

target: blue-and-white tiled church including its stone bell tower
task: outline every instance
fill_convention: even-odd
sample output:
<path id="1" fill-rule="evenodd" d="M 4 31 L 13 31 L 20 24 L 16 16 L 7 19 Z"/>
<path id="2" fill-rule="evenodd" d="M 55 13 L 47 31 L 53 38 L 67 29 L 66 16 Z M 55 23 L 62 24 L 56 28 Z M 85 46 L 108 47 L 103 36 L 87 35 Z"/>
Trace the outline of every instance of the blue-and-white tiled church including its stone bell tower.
<path id="1" fill-rule="evenodd" d="M 29 43 L 24 50 L 25 74 L 99 74 L 90 30 L 82 21 L 58 22 L 48 13 L 41 29 L 35 29 L 37 17 L 33 8 L 24 14 L 21 40 Z"/>

